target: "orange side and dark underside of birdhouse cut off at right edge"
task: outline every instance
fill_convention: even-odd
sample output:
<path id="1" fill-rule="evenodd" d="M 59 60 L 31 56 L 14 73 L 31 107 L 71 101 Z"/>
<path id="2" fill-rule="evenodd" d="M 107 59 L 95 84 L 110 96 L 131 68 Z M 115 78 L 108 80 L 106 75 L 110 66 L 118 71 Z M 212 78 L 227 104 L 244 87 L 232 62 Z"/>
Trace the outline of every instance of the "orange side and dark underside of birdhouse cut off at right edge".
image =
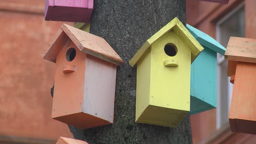
<path id="1" fill-rule="evenodd" d="M 238 62 L 229 111 L 233 132 L 256 134 L 256 63 Z"/>

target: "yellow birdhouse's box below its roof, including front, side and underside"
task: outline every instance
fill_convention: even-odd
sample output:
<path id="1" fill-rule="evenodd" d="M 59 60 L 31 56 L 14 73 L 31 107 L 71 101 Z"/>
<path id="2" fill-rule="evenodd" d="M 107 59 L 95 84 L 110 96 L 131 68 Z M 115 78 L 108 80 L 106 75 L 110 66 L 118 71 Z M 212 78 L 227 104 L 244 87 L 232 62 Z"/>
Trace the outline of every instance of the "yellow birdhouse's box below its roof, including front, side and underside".
<path id="1" fill-rule="evenodd" d="M 177 47 L 173 57 L 164 46 Z M 178 67 L 164 66 L 169 59 L 179 60 Z M 142 55 L 137 63 L 136 122 L 177 127 L 190 110 L 191 51 L 169 31 Z"/>

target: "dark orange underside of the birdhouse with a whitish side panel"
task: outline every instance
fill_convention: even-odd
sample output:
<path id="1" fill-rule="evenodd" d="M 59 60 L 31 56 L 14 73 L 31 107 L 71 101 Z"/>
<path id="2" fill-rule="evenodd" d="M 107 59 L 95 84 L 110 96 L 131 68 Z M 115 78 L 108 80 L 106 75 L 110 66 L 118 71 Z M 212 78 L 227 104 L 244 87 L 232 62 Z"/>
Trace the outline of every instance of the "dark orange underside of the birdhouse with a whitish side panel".
<path id="1" fill-rule="evenodd" d="M 93 115 L 86 114 L 84 112 L 79 112 L 71 115 L 64 115 L 53 119 L 64 122 L 66 124 L 72 125 L 80 129 L 88 129 L 92 127 L 112 124 L 109 121 L 103 120 Z"/>

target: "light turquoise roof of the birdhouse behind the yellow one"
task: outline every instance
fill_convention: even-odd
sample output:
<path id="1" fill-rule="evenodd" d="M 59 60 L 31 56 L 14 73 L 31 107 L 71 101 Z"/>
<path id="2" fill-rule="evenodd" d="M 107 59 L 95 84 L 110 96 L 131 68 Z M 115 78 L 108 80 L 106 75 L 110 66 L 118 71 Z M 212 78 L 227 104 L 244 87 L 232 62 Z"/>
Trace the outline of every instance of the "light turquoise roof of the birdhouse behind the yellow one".
<path id="1" fill-rule="evenodd" d="M 187 29 L 204 48 L 209 48 L 221 55 L 225 54 L 226 48 L 223 47 L 211 36 L 207 35 L 204 32 L 201 32 L 200 30 L 194 28 L 193 26 L 190 26 L 189 24 L 187 24 Z"/>

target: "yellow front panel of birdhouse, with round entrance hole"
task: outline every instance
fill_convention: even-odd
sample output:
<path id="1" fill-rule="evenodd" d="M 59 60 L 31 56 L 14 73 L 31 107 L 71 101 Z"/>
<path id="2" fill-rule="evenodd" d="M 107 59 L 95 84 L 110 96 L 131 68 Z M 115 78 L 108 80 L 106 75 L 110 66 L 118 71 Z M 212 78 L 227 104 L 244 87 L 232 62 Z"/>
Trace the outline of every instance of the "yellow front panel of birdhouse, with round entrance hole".
<path id="1" fill-rule="evenodd" d="M 151 53 L 150 105 L 188 112 L 191 51 L 170 31 L 152 44 Z M 164 66 L 166 61 L 170 65 Z"/>

